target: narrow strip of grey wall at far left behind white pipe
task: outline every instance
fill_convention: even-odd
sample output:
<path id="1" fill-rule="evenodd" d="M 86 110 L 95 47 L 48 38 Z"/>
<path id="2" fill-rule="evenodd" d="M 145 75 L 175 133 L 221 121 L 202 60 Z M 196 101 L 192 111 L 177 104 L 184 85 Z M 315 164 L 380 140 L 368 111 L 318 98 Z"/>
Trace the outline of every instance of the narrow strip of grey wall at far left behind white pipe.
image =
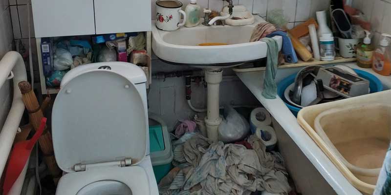
<path id="1" fill-rule="evenodd" d="M 0 0 L 0 59 L 12 49 L 12 25 L 8 0 Z M 11 82 L 0 87 L 0 131 L 11 107 Z"/>

